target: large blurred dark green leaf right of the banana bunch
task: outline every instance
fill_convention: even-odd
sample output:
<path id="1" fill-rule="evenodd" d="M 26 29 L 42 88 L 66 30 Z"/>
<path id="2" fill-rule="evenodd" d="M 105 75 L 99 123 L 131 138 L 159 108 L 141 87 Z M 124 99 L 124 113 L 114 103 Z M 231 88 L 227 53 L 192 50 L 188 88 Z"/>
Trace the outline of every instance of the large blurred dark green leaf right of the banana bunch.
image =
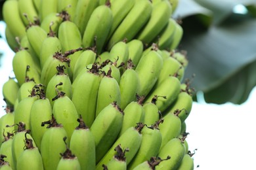
<path id="1" fill-rule="evenodd" d="M 179 48 L 188 52 L 185 76 L 190 78 L 196 74 L 194 88 L 204 92 L 208 103 L 244 103 L 256 85 L 255 3 L 181 0 L 175 11 L 184 29 Z M 238 4 L 246 5 L 248 14 L 234 13 Z M 196 8 L 203 10 L 194 12 Z M 211 22 L 208 27 L 205 20 Z"/>

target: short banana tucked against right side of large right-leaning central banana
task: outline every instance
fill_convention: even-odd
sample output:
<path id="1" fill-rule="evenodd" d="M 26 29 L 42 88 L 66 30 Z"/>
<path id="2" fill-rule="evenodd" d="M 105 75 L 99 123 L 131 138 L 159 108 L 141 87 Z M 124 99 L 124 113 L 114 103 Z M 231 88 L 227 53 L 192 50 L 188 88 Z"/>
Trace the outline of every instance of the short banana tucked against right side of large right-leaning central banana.
<path id="1" fill-rule="evenodd" d="M 144 120 L 144 109 L 142 103 L 144 100 L 143 96 L 136 95 L 137 101 L 132 101 L 123 110 L 123 124 L 119 136 L 121 136 L 129 127 L 135 127 L 138 122 Z"/>

